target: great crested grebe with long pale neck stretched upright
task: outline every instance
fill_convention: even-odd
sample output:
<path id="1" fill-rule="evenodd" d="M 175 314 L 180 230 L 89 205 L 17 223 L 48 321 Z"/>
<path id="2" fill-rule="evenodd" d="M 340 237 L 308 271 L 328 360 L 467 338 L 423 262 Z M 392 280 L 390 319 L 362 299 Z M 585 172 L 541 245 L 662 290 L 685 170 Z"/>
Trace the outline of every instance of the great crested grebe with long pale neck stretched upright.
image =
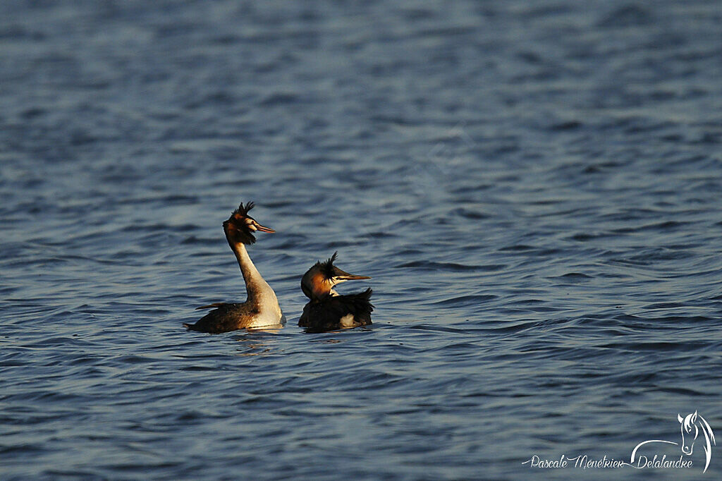
<path id="1" fill-rule="evenodd" d="M 214 303 L 199 307 L 199 309 L 214 309 L 199 319 L 196 324 L 183 324 L 188 329 L 218 334 L 248 327 L 283 324 L 284 318 L 276 293 L 258 273 L 258 269 L 253 265 L 245 250 L 246 245 L 256 242 L 256 238 L 253 237 L 253 232 L 256 230 L 267 233 L 276 231 L 264 227 L 249 216 L 248 211 L 251 209 L 253 209 L 253 202 L 248 202 L 245 206 L 241 203 L 229 219 L 223 222 L 226 239 L 238 259 L 240 272 L 243 273 L 248 298 L 245 303 Z"/>

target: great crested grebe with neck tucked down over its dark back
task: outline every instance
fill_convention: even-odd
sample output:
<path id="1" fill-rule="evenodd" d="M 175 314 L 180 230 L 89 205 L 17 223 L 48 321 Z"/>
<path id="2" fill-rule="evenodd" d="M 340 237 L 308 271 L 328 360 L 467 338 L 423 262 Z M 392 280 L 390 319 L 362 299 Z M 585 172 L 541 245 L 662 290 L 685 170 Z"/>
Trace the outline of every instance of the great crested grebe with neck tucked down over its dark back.
<path id="1" fill-rule="evenodd" d="M 373 306 L 369 300 L 372 290 L 348 295 L 339 295 L 334 290 L 334 286 L 341 282 L 370 277 L 349 274 L 334 266 L 338 254 L 334 252 L 328 261 L 316 262 L 301 279 L 301 290 L 310 301 L 303 307 L 298 325 L 307 328 L 309 332 L 371 324 Z"/>

